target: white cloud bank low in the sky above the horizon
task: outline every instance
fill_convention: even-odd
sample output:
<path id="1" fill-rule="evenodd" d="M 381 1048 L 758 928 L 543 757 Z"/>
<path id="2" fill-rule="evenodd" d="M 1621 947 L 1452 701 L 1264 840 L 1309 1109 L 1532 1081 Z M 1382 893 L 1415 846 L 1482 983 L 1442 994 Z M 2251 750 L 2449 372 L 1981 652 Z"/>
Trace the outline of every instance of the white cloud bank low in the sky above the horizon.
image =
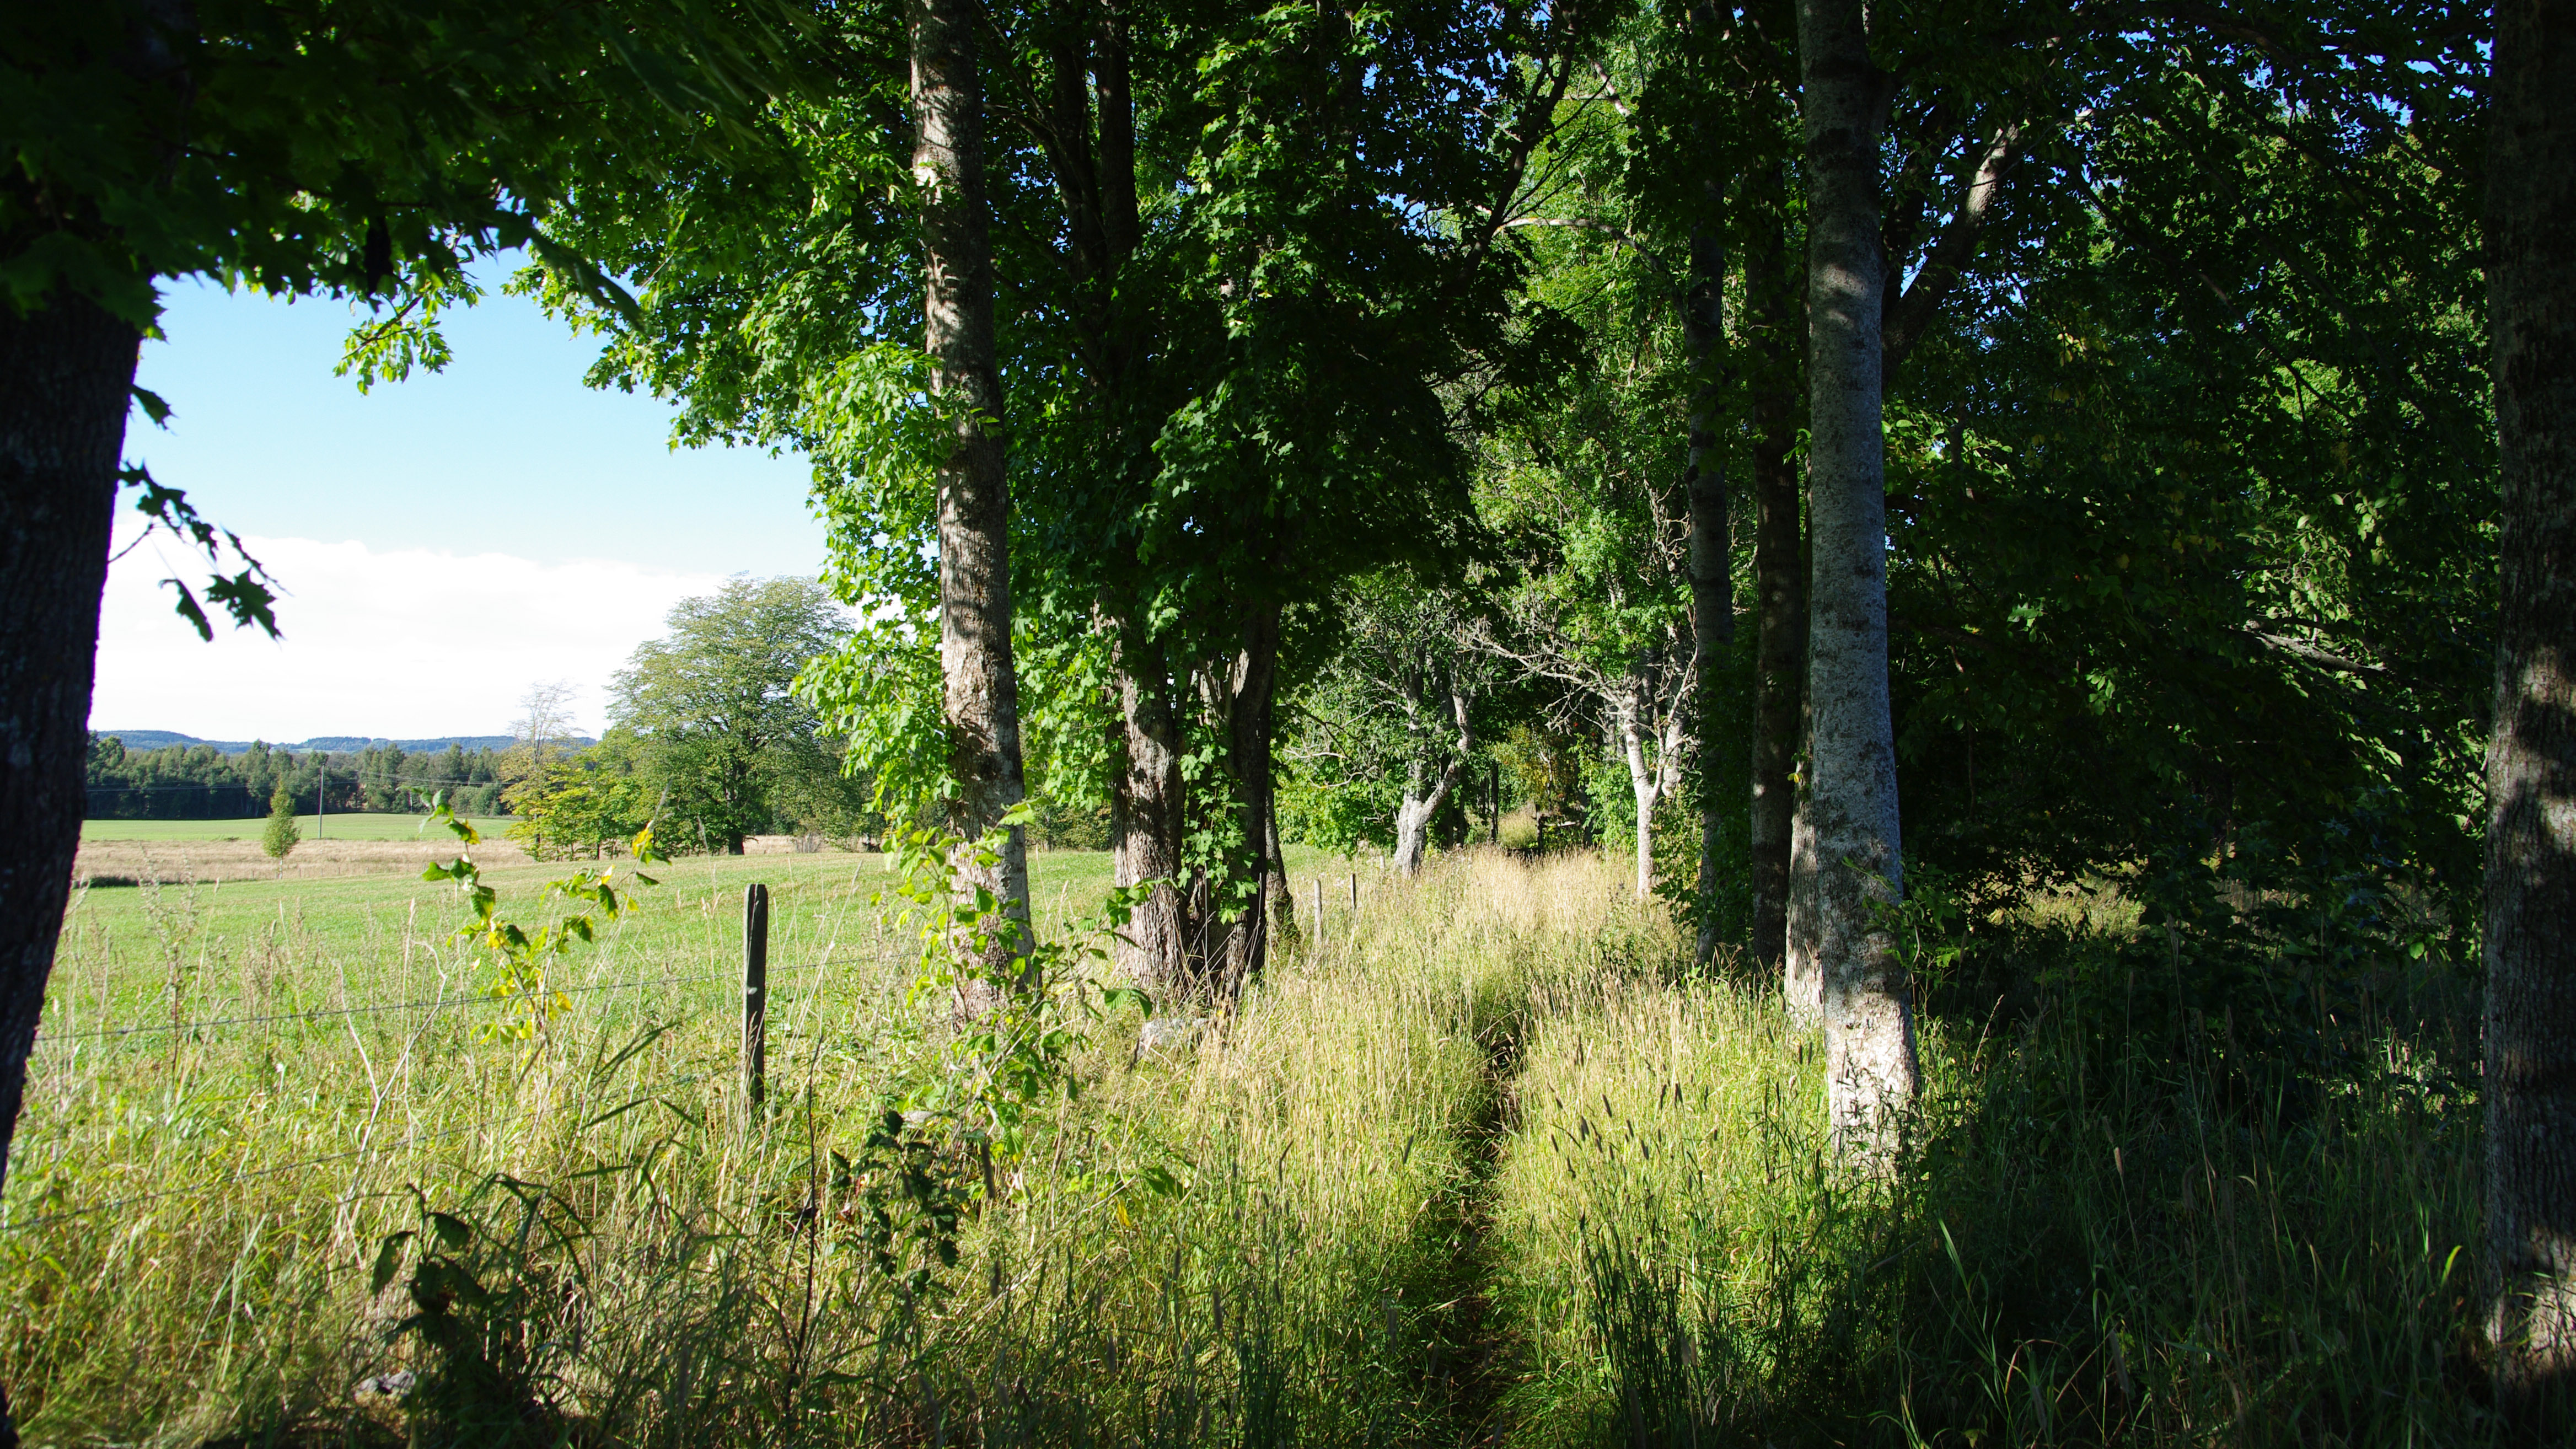
<path id="1" fill-rule="evenodd" d="M 268 565 L 281 639 L 216 616 L 201 642 L 160 580 L 201 588 L 204 559 L 149 539 L 108 570 L 90 724 L 204 740 L 500 735 L 538 681 L 574 686 L 605 724 L 608 676 L 662 619 L 724 580 L 613 559 L 371 549 L 242 539 Z"/>

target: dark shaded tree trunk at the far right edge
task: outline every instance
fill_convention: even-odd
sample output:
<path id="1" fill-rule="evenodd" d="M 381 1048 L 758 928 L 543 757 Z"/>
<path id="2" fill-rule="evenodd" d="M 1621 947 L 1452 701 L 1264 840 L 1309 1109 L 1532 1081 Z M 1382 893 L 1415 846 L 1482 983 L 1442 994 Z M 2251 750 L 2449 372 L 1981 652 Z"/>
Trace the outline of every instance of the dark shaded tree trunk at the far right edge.
<path id="1" fill-rule="evenodd" d="M 2576 1428 L 2576 10 L 2496 10 L 2486 255 L 2504 472 L 2486 745 L 2496 1400 Z"/>

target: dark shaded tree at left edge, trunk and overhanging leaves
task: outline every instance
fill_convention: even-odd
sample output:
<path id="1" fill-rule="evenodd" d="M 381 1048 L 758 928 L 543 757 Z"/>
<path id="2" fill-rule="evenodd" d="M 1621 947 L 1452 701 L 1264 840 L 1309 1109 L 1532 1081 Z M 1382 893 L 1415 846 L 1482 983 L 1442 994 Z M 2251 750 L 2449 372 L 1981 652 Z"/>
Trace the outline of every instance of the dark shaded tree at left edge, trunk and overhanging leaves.
<path id="1" fill-rule="evenodd" d="M 616 289 L 533 219 L 631 131 L 703 144 L 773 75 L 768 0 L 134 0 L 0 13 L 0 1173 L 80 833 L 85 714 L 121 487 L 209 559 L 206 603 L 268 624 L 237 541 L 118 451 L 155 286 L 273 294 L 446 286 L 533 245 Z M 0 1176 L 5 1183 L 5 1176 Z"/>

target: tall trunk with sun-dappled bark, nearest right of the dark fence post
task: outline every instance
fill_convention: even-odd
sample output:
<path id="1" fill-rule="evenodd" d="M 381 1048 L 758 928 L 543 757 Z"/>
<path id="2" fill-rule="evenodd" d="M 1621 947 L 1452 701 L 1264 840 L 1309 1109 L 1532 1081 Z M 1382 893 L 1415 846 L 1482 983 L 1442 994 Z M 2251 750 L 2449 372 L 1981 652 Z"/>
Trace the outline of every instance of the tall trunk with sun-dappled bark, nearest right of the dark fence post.
<path id="1" fill-rule="evenodd" d="M 930 389 L 956 407 L 940 462 L 940 678 L 951 828 L 979 838 L 1025 797 L 1020 683 L 1010 657 L 1010 482 L 1002 454 L 1002 369 L 992 333 L 992 240 L 984 206 L 984 88 L 976 8 L 912 5 L 912 175 L 922 180 L 922 289 Z M 958 856 L 958 887 L 989 890 L 1028 928 L 1028 838 L 1010 828 L 994 866 Z M 1023 949 L 1025 949 L 1023 938 Z"/>

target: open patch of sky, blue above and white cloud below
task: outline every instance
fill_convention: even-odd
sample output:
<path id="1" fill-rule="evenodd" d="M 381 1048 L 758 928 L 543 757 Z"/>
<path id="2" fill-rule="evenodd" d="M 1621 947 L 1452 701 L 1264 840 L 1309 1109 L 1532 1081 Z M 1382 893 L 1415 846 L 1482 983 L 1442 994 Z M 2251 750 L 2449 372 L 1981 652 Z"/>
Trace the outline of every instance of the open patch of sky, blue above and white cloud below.
<path id="1" fill-rule="evenodd" d="M 726 575 L 806 575 L 822 523 L 806 464 L 667 446 L 670 407 L 595 392 L 577 340 L 531 302 L 487 294 L 448 320 L 443 374 L 361 394 L 332 376 L 343 302 L 180 284 L 144 343 L 126 459 L 183 487 L 278 575 L 286 639 L 170 614 L 157 580 L 201 578 L 162 539 L 111 570 L 100 730 L 201 737 L 487 735 L 538 681 L 605 722 L 608 673 L 672 603 Z M 118 518 L 118 544 L 137 531 Z"/>

